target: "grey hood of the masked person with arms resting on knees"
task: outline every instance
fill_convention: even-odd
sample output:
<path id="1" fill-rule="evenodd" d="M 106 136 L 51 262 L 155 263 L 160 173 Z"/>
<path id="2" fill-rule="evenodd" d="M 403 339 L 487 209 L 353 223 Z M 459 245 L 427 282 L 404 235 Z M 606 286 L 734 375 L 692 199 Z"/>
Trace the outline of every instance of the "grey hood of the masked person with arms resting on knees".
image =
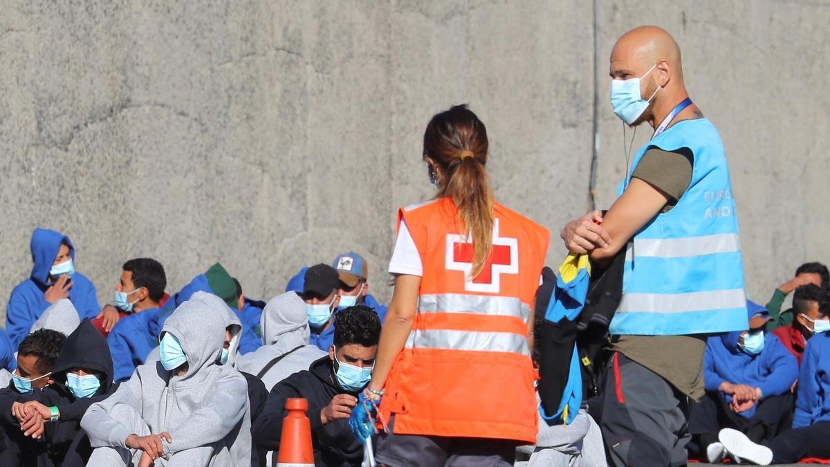
<path id="1" fill-rule="evenodd" d="M 161 337 L 164 332 L 169 332 L 182 345 L 184 356 L 188 359 L 188 371 L 181 381 L 202 380 L 194 376 L 217 366 L 225 342 L 225 302 L 207 292 L 199 293 L 198 297 L 195 293 L 193 295 L 167 318 L 159 335 Z"/>

